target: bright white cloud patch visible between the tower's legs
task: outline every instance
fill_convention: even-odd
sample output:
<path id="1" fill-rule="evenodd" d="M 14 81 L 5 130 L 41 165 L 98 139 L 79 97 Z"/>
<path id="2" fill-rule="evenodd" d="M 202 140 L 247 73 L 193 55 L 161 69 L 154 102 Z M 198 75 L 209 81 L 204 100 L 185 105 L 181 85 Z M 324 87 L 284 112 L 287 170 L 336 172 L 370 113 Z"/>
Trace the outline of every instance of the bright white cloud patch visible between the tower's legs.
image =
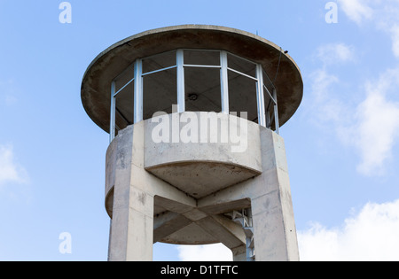
<path id="1" fill-rule="evenodd" d="M 184 261 L 231 261 L 232 253 L 223 244 L 179 245 L 179 258 Z"/>

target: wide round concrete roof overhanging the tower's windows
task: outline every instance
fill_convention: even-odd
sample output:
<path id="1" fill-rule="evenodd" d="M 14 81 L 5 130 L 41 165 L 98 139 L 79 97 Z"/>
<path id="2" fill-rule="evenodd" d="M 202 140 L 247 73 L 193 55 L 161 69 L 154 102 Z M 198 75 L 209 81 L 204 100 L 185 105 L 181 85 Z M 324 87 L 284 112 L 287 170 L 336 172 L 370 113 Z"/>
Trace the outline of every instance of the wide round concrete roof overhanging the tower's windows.
<path id="1" fill-rule="evenodd" d="M 100 128 L 109 132 L 111 82 L 137 58 L 176 49 L 227 50 L 261 63 L 278 90 L 279 123 L 289 120 L 301 104 L 301 71 L 289 55 L 258 35 L 230 27 L 183 25 L 162 27 L 132 35 L 101 52 L 82 79 L 82 105 Z M 281 53 L 281 58 L 280 58 Z M 280 66 L 278 69 L 278 60 Z"/>

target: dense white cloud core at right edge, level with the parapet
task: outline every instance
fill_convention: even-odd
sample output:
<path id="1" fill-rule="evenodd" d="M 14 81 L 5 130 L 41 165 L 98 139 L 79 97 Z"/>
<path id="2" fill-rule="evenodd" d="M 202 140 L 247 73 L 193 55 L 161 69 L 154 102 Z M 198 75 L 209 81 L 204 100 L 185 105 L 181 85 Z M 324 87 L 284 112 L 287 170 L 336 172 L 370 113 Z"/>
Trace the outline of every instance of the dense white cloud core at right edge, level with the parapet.
<path id="1" fill-rule="evenodd" d="M 378 81 L 366 83 L 366 97 L 357 105 L 354 120 L 345 128 L 346 141 L 361 157 L 357 170 L 365 175 L 384 174 L 387 160 L 399 139 L 399 68 L 388 70 Z M 343 136 L 342 136 L 343 138 Z"/>

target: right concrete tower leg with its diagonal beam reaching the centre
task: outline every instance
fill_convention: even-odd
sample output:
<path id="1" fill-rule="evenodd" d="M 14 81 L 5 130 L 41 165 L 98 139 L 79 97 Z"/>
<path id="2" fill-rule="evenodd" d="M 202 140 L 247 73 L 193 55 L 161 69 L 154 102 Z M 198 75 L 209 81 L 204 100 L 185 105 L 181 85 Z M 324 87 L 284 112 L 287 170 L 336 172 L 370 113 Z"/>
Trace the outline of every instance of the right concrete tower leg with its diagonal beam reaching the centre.
<path id="1" fill-rule="evenodd" d="M 203 198 L 199 207 L 216 207 L 249 199 L 254 259 L 299 260 L 284 140 L 270 129 L 260 129 L 262 174 Z M 246 260 L 246 247 L 240 248 L 243 249 L 231 249 L 233 260 Z"/>

